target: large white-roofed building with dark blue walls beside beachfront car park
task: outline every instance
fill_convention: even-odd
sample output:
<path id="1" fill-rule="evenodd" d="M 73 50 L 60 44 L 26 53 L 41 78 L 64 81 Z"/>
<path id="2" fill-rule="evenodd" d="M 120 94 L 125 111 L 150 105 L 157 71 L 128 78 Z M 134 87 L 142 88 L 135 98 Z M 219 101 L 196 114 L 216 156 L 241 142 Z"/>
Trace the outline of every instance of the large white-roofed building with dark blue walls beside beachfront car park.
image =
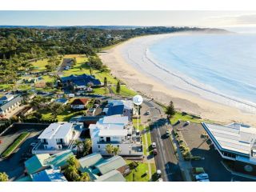
<path id="1" fill-rule="evenodd" d="M 202 126 L 222 158 L 233 161 L 236 170 L 256 175 L 256 128 L 240 123 Z"/>

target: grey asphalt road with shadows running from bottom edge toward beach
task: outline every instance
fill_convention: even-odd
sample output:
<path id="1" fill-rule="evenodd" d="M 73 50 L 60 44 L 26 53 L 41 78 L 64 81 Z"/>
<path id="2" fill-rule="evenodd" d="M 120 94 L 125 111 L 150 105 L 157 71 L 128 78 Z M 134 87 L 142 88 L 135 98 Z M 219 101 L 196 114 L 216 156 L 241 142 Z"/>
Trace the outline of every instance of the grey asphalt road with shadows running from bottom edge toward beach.
<path id="1" fill-rule="evenodd" d="M 147 118 L 151 119 L 151 140 L 156 142 L 158 154 L 154 160 L 157 170 L 161 170 L 162 179 L 165 182 L 182 181 L 181 171 L 178 166 L 178 160 L 174 154 L 174 148 L 170 142 L 170 138 L 166 138 L 166 130 L 170 125 L 167 124 L 165 114 L 162 107 L 152 101 L 144 101 L 146 110 L 150 111 Z"/>

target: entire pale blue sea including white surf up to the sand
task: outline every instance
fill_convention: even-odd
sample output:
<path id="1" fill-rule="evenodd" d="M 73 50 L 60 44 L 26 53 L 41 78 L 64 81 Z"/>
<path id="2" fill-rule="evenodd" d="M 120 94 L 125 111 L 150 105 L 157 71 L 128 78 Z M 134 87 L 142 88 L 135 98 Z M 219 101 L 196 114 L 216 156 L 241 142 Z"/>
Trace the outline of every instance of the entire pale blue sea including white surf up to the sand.
<path id="1" fill-rule="evenodd" d="M 256 34 L 182 34 L 139 41 L 123 51 L 140 70 L 166 85 L 256 114 Z"/>

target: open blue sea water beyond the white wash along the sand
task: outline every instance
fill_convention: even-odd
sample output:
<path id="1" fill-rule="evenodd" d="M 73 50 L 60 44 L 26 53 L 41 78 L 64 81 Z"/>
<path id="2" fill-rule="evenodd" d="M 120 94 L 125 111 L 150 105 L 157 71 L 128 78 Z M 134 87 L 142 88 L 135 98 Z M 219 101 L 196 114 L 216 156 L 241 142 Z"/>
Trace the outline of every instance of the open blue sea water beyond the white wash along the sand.
<path id="1" fill-rule="evenodd" d="M 256 103 L 256 34 L 177 35 L 151 43 L 146 51 L 162 70 L 191 86 Z"/>

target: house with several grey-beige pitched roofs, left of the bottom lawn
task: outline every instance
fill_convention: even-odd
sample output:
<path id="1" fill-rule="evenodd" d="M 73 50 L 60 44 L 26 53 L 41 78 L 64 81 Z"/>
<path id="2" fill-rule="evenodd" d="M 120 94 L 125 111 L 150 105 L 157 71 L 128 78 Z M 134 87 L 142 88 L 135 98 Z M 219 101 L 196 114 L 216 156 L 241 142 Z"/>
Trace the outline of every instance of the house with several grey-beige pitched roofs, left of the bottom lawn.
<path id="1" fill-rule="evenodd" d="M 101 154 L 93 153 L 78 159 L 78 162 L 79 170 L 88 173 L 95 182 L 124 182 L 126 179 L 123 175 L 130 173 L 129 166 L 120 156 L 105 159 Z"/>

